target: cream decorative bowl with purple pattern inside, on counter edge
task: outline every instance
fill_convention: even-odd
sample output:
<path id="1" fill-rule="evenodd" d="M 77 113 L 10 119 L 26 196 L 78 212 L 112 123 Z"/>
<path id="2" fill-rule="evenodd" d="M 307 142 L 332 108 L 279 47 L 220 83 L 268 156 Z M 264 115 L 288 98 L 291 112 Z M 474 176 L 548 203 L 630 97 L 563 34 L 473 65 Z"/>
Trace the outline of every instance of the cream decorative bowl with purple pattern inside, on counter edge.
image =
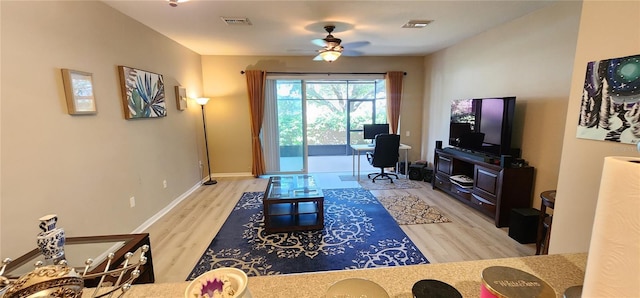
<path id="1" fill-rule="evenodd" d="M 218 268 L 196 277 L 184 292 L 185 298 L 244 297 L 247 274 L 236 268 Z"/>

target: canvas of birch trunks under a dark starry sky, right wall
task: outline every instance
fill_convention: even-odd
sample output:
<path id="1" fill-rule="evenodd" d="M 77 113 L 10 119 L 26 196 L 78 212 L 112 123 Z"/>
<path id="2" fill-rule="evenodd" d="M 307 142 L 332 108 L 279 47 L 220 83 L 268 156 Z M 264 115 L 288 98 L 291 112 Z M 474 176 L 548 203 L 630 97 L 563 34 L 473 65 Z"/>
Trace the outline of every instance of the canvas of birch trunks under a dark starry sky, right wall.
<path id="1" fill-rule="evenodd" d="M 640 141 L 640 55 L 587 63 L 576 136 Z"/>

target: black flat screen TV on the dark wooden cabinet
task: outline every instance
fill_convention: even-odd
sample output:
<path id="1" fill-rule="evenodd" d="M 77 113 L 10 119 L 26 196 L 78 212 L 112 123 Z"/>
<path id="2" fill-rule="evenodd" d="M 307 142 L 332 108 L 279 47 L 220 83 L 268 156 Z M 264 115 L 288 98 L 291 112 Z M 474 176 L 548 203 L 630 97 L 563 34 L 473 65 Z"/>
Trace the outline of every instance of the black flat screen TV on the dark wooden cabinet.
<path id="1" fill-rule="evenodd" d="M 492 156 L 510 155 L 515 106 L 515 97 L 454 100 L 449 145 Z"/>

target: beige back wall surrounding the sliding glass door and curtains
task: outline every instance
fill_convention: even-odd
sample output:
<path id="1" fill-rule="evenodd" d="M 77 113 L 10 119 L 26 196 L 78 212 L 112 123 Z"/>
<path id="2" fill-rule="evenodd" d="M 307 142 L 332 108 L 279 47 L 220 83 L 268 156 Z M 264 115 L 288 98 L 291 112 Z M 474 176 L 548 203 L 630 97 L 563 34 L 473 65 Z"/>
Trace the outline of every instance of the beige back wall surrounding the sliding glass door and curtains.
<path id="1" fill-rule="evenodd" d="M 335 63 L 311 57 L 203 56 L 204 93 L 209 153 L 214 175 L 251 173 L 251 128 L 247 83 L 240 71 L 271 72 L 386 72 L 404 71 L 401 141 L 413 147 L 409 159 L 420 158 L 423 97 L 423 57 L 341 57 Z M 406 132 L 410 136 L 406 136 Z"/>

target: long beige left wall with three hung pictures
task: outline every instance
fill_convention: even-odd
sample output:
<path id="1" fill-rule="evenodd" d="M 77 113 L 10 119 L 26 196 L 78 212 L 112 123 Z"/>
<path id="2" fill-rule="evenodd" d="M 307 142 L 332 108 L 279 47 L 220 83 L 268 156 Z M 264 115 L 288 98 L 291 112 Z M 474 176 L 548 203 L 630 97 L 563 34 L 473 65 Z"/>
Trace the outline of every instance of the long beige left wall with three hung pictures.
<path id="1" fill-rule="evenodd" d="M 200 109 L 173 88 L 201 95 L 199 55 L 98 1 L 1 7 L 3 256 L 35 246 L 42 215 L 68 236 L 130 233 L 198 184 Z M 164 75 L 167 117 L 124 120 L 118 65 Z M 67 114 L 61 68 L 93 73 L 97 115 Z"/>

